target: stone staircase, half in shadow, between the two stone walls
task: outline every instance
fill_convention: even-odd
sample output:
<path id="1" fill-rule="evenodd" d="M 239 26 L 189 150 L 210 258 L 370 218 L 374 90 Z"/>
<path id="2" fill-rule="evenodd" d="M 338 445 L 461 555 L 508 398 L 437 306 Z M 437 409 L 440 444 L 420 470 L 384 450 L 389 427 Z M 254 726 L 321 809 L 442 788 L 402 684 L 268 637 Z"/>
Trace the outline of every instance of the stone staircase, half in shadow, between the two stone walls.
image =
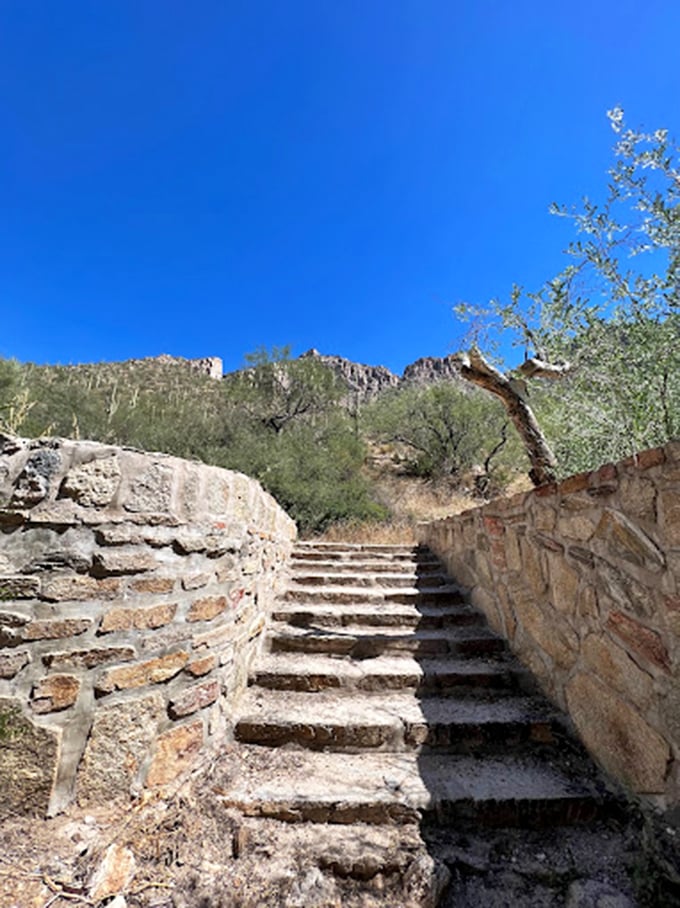
<path id="1" fill-rule="evenodd" d="M 299 543 L 271 617 L 223 797 L 241 816 L 335 837 L 351 874 L 375 852 L 367 830 L 394 859 L 423 828 L 584 828 L 612 811 L 564 718 L 428 550 Z M 437 904 L 430 876 L 426 897 L 377 904 Z"/>

